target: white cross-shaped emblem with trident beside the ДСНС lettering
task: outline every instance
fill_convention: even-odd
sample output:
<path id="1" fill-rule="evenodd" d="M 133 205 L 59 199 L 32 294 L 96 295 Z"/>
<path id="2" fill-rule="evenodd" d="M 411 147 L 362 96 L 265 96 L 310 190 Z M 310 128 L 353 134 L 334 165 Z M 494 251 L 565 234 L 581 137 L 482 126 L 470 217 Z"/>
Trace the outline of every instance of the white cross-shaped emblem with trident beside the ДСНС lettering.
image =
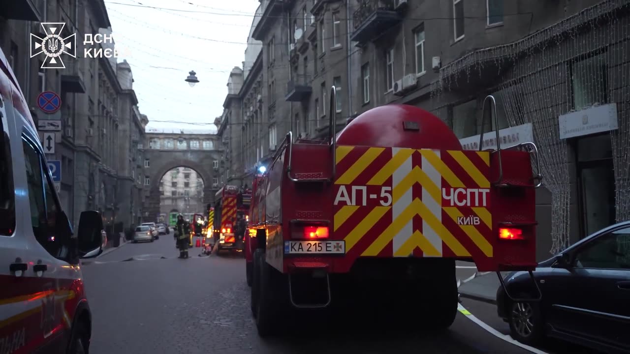
<path id="1" fill-rule="evenodd" d="M 64 38 L 66 23 L 63 22 L 44 22 L 41 25 L 46 36 L 40 38 L 31 33 L 31 58 L 43 53 L 46 57 L 42 69 L 64 69 L 62 54 L 76 58 L 76 33 Z"/>

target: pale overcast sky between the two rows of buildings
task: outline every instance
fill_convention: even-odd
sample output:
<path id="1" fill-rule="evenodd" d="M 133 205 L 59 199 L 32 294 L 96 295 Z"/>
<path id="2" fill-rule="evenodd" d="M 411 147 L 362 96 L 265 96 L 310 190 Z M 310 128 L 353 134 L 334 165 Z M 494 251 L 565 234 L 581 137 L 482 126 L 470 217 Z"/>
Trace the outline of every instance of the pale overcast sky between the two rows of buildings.
<path id="1" fill-rule="evenodd" d="M 258 0 L 105 0 L 147 132 L 216 132 L 229 72 L 242 67 Z M 161 9 L 156 9 L 161 8 Z M 176 11 L 179 10 L 179 11 Z M 251 63 L 250 63 L 251 65 Z M 184 80 L 195 71 L 199 83 Z"/>

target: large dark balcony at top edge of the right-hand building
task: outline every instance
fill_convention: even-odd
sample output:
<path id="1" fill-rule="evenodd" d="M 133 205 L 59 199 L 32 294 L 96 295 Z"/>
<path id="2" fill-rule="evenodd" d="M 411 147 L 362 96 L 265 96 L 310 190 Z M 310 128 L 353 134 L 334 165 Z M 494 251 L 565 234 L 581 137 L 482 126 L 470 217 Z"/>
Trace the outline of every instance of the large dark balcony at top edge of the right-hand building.
<path id="1" fill-rule="evenodd" d="M 365 0 L 352 15 L 352 20 L 354 31 L 350 39 L 364 44 L 398 25 L 403 14 L 397 11 L 394 1 Z"/>

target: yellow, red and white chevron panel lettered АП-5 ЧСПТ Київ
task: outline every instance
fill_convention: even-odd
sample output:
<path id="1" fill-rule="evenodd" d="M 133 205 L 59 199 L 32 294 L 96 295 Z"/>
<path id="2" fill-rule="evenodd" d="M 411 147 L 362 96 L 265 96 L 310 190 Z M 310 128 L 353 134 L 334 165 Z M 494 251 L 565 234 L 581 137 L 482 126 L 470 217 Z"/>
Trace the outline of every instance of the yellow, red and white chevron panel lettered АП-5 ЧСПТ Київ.
<path id="1" fill-rule="evenodd" d="M 349 256 L 493 256 L 490 152 L 338 146 L 335 163 Z"/>

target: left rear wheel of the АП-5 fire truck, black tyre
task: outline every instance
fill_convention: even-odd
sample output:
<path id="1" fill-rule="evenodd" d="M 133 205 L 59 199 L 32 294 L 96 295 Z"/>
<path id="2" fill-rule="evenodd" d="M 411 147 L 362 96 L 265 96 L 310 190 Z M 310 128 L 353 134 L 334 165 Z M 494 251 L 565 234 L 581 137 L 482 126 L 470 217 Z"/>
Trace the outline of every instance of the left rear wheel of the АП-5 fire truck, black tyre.
<path id="1" fill-rule="evenodd" d="M 256 250 L 258 251 L 258 250 Z M 258 295 L 256 299 L 256 329 L 261 337 L 268 337 L 280 331 L 280 319 L 288 309 L 289 283 L 284 274 L 266 263 L 261 252 L 257 265 Z"/>

